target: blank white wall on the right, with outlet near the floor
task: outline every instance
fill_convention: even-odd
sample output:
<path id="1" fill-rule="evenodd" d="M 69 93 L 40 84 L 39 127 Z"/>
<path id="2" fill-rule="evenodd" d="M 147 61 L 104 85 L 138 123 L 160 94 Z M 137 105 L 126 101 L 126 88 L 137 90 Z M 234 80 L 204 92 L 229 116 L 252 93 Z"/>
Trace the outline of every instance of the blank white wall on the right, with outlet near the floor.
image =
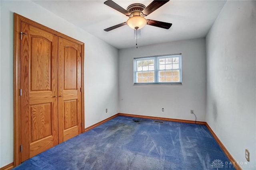
<path id="1" fill-rule="evenodd" d="M 244 170 L 256 169 L 256 1 L 227 1 L 206 51 L 206 121 L 236 161 L 250 151 Z"/>

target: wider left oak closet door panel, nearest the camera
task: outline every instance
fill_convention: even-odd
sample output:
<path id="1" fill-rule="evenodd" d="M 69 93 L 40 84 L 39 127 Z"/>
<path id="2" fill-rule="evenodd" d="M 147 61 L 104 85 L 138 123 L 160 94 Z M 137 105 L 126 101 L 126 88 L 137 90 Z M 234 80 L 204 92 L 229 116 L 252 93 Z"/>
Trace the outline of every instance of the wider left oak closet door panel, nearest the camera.
<path id="1" fill-rule="evenodd" d="M 21 23 L 21 162 L 58 144 L 58 36 Z"/>

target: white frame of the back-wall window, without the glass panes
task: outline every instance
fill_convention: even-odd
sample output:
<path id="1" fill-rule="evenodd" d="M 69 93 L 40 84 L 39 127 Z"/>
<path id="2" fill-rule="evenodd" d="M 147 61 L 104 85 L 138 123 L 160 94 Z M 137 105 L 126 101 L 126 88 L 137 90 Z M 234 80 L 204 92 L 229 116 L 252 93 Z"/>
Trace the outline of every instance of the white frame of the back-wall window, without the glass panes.
<path id="1" fill-rule="evenodd" d="M 164 70 L 160 70 L 159 69 L 159 59 L 161 58 L 174 58 L 174 57 L 178 57 L 179 58 L 179 68 L 177 69 L 169 69 L 169 70 L 179 70 L 180 74 L 179 74 L 179 82 L 159 82 L 159 71 L 164 71 Z M 181 53 L 178 54 L 169 54 L 169 55 L 157 55 L 157 56 L 149 56 L 149 57 L 138 57 L 138 58 L 134 58 L 134 85 L 182 85 L 182 60 L 181 60 Z M 137 80 L 137 72 L 142 72 L 142 71 L 138 71 L 136 70 L 137 67 L 137 61 L 140 60 L 154 60 L 154 82 L 136 82 Z"/>

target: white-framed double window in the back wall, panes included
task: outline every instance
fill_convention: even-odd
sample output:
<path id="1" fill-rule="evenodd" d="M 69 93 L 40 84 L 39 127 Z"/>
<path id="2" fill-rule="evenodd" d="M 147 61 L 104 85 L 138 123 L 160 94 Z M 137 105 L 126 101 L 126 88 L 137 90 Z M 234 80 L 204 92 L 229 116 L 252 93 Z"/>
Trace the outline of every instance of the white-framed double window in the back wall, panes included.
<path id="1" fill-rule="evenodd" d="M 134 58 L 134 84 L 181 83 L 181 54 Z"/>

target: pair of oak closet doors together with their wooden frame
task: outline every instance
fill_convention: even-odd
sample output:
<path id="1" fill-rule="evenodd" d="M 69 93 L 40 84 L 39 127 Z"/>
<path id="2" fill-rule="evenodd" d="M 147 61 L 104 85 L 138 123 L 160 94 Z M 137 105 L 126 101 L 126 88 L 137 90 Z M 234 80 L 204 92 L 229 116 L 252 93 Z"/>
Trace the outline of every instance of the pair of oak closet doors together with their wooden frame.
<path id="1" fill-rule="evenodd" d="M 14 166 L 84 131 L 84 43 L 14 13 Z"/>

